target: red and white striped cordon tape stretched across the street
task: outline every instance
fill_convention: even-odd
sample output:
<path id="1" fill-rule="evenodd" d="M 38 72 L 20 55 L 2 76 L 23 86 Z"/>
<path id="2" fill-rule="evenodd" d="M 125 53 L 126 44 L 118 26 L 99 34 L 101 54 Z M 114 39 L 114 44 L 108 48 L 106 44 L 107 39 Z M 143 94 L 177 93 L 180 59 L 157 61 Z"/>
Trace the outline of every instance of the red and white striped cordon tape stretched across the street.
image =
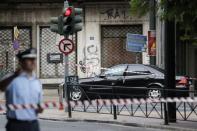
<path id="1" fill-rule="evenodd" d="M 188 103 L 197 103 L 197 97 L 191 98 L 160 98 L 160 99 L 152 99 L 152 98 L 141 98 L 141 99 L 96 99 L 96 100 L 84 100 L 84 101 L 69 101 L 67 102 L 44 102 L 41 104 L 8 104 L 0 105 L 0 111 L 6 110 L 24 110 L 24 109 L 59 109 L 63 110 L 65 107 L 68 107 L 70 104 L 71 107 L 75 106 L 111 106 L 111 105 L 131 105 L 131 104 L 146 104 L 146 103 L 172 103 L 172 102 L 188 102 Z"/>

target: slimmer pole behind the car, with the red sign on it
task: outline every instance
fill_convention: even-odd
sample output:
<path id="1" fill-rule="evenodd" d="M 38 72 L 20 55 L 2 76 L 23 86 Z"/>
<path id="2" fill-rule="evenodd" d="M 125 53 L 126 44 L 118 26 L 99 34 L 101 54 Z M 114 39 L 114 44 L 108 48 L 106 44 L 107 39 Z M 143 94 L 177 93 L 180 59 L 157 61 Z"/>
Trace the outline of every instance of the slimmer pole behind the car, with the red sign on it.
<path id="1" fill-rule="evenodd" d="M 152 34 L 156 34 L 156 6 L 155 0 L 149 0 L 149 30 Z M 150 64 L 156 65 L 156 56 L 150 56 Z"/>

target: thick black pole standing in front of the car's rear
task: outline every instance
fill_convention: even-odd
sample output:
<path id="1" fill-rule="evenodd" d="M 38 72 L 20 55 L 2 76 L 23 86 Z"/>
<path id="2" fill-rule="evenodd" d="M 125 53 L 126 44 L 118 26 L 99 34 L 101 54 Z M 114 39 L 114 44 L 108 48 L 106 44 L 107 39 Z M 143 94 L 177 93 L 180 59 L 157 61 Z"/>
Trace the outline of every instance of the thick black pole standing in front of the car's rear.
<path id="1" fill-rule="evenodd" d="M 173 6 L 167 2 L 166 10 Z M 175 90 L 175 20 L 165 21 L 165 89 Z M 168 97 L 175 97 L 175 91 L 165 91 Z M 169 122 L 176 122 L 176 103 L 167 103 Z"/>

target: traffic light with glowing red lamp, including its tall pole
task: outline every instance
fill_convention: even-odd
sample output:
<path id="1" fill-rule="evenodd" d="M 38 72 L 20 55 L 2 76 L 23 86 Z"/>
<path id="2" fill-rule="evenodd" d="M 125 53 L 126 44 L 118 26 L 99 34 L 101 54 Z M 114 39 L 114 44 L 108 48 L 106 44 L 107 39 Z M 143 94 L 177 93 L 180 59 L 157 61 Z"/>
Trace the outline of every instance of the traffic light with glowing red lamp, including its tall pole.
<path id="1" fill-rule="evenodd" d="M 58 17 L 51 17 L 50 23 L 50 30 L 52 32 L 55 32 L 59 35 L 64 35 L 64 40 L 68 40 L 69 35 L 73 35 L 79 31 L 82 30 L 82 8 L 74 8 L 73 6 L 69 5 L 68 0 L 64 0 L 64 8 L 63 8 L 63 14 L 59 15 Z M 70 41 L 70 40 L 68 40 Z M 61 47 L 61 42 L 60 41 L 60 45 L 59 48 Z M 71 41 L 70 41 L 71 42 Z M 65 44 L 65 43 L 63 43 Z M 73 45 L 73 43 L 72 43 Z M 65 47 L 64 47 L 65 48 Z M 69 49 L 69 48 L 68 48 Z M 70 106 L 70 87 L 68 86 L 70 83 L 68 81 L 69 78 L 69 62 L 68 62 L 68 54 L 71 53 L 73 51 L 74 48 L 72 48 L 72 50 L 70 50 L 70 52 L 65 53 L 66 49 L 61 49 L 60 51 L 62 53 L 64 53 L 64 62 L 65 62 L 65 83 L 64 83 L 64 97 L 65 100 L 68 103 L 68 106 L 65 108 L 65 111 L 68 112 L 68 116 L 69 118 L 71 118 L 71 106 Z"/>

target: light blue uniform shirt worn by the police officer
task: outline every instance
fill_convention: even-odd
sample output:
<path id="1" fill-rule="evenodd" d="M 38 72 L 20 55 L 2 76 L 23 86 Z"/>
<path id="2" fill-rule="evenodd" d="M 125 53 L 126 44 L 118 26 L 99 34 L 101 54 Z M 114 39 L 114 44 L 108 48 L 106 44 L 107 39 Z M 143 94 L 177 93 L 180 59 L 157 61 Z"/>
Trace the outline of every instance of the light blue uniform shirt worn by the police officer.
<path id="1" fill-rule="evenodd" d="M 32 77 L 22 73 L 15 78 L 6 91 L 7 104 L 37 104 L 42 100 L 42 85 L 35 75 Z M 9 119 L 24 121 L 37 120 L 34 109 L 7 111 Z"/>

